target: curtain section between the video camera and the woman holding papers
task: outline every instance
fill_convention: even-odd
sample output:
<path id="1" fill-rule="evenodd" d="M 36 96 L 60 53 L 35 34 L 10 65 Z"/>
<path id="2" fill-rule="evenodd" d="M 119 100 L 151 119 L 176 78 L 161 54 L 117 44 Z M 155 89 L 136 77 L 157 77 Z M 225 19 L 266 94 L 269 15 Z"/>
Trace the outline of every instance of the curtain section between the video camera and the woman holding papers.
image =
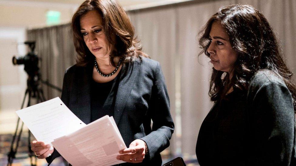
<path id="1" fill-rule="evenodd" d="M 40 57 L 41 80 L 62 88 L 65 70 L 75 64 L 76 51 L 69 24 L 27 31 L 28 40 L 36 41 Z M 41 83 L 45 99 L 61 96 L 61 92 Z"/>

